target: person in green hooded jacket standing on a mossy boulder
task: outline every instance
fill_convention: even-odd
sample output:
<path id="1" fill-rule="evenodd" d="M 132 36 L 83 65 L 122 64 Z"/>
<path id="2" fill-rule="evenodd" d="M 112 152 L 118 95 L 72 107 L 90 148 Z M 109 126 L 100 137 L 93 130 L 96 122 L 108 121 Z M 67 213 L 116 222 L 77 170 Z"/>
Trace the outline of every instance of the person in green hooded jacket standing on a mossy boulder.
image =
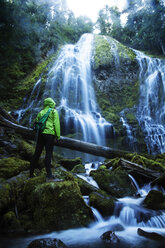
<path id="1" fill-rule="evenodd" d="M 44 163 L 47 173 L 47 179 L 49 180 L 54 179 L 51 171 L 51 158 L 53 153 L 54 139 L 60 139 L 59 116 L 57 110 L 55 109 L 55 102 L 50 97 L 44 100 L 44 108 L 38 113 L 35 119 L 35 123 L 38 123 L 39 120 L 41 120 L 41 117 L 45 116 L 46 114 L 48 115 L 48 117 L 45 123 L 45 127 L 43 131 L 38 132 L 35 153 L 30 163 L 30 177 L 34 177 L 34 169 L 36 168 L 36 164 L 39 160 L 41 152 L 45 147 L 46 155 Z"/>

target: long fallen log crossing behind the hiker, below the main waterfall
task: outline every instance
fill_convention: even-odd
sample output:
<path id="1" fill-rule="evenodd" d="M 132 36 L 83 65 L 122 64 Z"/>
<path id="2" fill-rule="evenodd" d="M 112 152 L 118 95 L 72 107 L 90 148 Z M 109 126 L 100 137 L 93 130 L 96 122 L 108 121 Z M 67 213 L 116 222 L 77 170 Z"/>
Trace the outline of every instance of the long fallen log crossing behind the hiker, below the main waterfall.
<path id="1" fill-rule="evenodd" d="M 33 129 L 16 124 L 6 119 L 2 115 L 0 115 L 0 125 L 5 128 L 13 129 L 16 133 L 21 134 L 28 139 L 34 140 L 36 138 L 36 133 L 33 131 Z M 128 153 L 126 151 L 115 150 L 110 147 L 99 146 L 93 143 L 88 143 L 85 141 L 71 139 L 63 136 L 60 137 L 59 141 L 55 140 L 54 145 L 93 154 L 104 158 L 124 157 Z"/>

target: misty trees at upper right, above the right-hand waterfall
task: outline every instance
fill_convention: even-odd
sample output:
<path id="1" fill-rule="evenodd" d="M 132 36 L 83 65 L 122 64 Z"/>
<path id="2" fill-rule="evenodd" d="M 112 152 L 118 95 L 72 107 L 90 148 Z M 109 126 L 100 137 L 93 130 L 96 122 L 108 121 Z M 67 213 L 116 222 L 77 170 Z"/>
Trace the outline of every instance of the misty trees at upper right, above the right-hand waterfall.
<path id="1" fill-rule="evenodd" d="M 164 54 L 165 5 L 162 0 L 128 1 L 123 12 L 105 6 L 99 12 L 97 26 L 101 34 L 109 35 L 138 50 Z M 121 23 L 122 15 L 127 21 Z"/>

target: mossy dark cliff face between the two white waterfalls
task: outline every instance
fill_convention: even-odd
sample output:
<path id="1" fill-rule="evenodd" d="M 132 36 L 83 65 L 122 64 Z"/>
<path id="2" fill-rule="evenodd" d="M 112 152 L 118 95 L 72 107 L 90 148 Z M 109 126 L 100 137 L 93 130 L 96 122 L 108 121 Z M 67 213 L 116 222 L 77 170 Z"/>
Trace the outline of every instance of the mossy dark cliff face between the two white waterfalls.
<path id="1" fill-rule="evenodd" d="M 109 144 L 120 149 L 146 151 L 136 120 L 139 64 L 134 51 L 111 37 L 96 35 L 93 84 L 101 113 L 114 126 L 115 140 L 110 135 Z"/>

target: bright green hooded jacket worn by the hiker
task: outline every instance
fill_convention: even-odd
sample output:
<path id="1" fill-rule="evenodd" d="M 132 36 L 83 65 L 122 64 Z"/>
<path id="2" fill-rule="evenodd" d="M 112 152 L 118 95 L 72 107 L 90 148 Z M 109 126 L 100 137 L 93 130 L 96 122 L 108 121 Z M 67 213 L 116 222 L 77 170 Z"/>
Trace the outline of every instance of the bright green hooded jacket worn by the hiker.
<path id="1" fill-rule="evenodd" d="M 57 139 L 60 139 L 60 121 L 58 112 L 55 107 L 55 102 L 52 98 L 46 98 L 44 100 L 44 108 L 38 113 L 35 121 L 39 119 L 48 111 L 49 108 L 52 108 L 48 119 L 46 121 L 45 129 L 42 133 L 55 135 Z"/>

